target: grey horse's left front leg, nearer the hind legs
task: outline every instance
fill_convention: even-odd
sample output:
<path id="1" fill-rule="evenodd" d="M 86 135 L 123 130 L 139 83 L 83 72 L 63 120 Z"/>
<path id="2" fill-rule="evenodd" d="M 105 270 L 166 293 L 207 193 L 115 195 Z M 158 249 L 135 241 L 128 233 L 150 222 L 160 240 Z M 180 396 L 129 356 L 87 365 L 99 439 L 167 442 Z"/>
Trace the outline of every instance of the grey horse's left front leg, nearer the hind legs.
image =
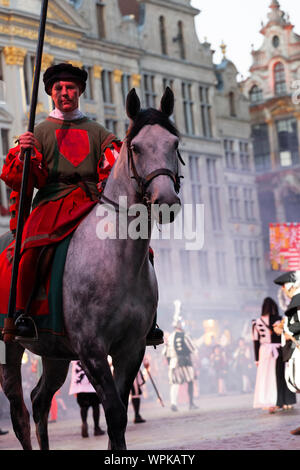
<path id="1" fill-rule="evenodd" d="M 107 362 L 104 349 L 96 353 L 85 351 L 79 354 L 81 365 L 96 390 L 106 417 L 109 448 L 111 450 L 126 450 L 125 430 L 127 425 L 127 412 L 118 394 L 115 382 Z"/>

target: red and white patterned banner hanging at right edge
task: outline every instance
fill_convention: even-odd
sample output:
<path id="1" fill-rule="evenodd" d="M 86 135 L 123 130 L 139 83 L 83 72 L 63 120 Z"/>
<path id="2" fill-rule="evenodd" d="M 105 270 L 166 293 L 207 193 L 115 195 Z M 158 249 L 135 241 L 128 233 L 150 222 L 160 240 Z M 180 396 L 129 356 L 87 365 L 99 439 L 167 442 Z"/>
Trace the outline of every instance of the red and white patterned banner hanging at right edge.
<path id="1" fill-rule="evenodd" d="M 300 270 L 300 223 L 270 224 L 270 261 L 274 271 Z"/>

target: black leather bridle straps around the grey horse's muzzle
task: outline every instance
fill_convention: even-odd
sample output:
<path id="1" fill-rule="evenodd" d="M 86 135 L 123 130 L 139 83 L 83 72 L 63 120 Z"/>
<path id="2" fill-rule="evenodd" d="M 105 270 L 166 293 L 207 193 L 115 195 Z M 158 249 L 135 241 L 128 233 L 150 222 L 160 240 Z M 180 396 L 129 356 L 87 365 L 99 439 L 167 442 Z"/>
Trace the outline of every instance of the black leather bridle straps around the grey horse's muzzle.
<path id="1" fill-rule="evenodd" d="M 135 181 L 137 182 L 139 192 L 142 195 L 143 200 L 146 197 L 147 188 L 148 188 L 149 184 L 151 183 L 151 181 L 154 180 L 154 178 L 157 178 L 157 176 L 161 176 L 161 175 L 169 176 L 171 178 L 171 180 L 173 181 L 173 183 L 174 183 L 175 192 L 177 194 L 179 193 L 180 186 L 181 186 L 180 179 L 183 178 L 183 176 L 179 175 L 178 167 L 177 167 L 177 172 L 176 173 L 174 173 L 171 170 L 168 170 L 167 168 L 158 168 L 157 170 L 154 170 L 151 173 L 149 173 L 149 175 L 147 175 L 144 178 L 144 177 L 140 176 L 137 172 L 137 169 L 136 169 L 136 166 L 135 166 L 135 163 L 134 163 L 134 159 L 133 159 L 133 149 L 132 149 L 132 146 L 131 146 L 131 142 L 127 143 L 127 154 L 128 154 L 128 164 L 130 165 L 131 171 L 133 173 L 133 176 L 131 176 L 131 178 L 135 179 Z M 182 163 L 182 165 L 185 165 L 178 149 L 177 149 L 177 157 L 178 157 L 178 160 L 180 161 L 180 163 Z"/>

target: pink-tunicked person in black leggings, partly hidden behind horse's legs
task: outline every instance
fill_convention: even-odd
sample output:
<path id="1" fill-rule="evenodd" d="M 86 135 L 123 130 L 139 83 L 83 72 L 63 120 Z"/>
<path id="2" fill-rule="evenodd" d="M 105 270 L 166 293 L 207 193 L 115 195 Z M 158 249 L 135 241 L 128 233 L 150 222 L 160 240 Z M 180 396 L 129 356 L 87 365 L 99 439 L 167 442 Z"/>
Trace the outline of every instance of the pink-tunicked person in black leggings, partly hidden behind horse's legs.
<path id="1" fill-rule="evenodd" d="M 91 407 L 93 410 L 94 420 L 94 436 L 102 436 L 105 434 L 100 427 L 100 399 L 89 382 L 80 361 L 72 361 L 72 375 L 69 395 L 76 395 L 77 403 L 80 407 L 81 416 L 81 435 L 82 437 L 89 437 L 88 433 L 88 410 Z"/>

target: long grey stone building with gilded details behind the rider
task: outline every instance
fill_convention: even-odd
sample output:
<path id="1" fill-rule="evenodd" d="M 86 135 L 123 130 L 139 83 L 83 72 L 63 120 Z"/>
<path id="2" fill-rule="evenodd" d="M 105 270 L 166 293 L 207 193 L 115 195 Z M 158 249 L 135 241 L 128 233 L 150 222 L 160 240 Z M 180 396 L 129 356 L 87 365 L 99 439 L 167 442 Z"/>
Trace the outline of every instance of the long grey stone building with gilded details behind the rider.
<path id="1" fill-rule="evenodd" d="M 0 154 L 26 130 L 40 1 L 0 0 Z M 81 110 L 121 139 L 128 125 L 124 102 L 135 87 L 144 106 L 159 106 L 170 86 L 181 132 L 182 202 L 204 205 L 204 245 L 153 240 L 160 284 L 160 324 L 170 328 L 175 299 L 194 331 L 204 319 L 257 314 L 265 295 L 248 101 L 225 56 L 200 43 L 189 0 L 50 0 L 43 70 L 70 61 L 89 83 Z M 52 109 L 41 81 L 37 122 Z M 2 231 L 8 226 L 1 184 Z M 195 219 L 194 219 L 195 222 Z M 199 229 L 198 229 L 199 230 Z"/>

